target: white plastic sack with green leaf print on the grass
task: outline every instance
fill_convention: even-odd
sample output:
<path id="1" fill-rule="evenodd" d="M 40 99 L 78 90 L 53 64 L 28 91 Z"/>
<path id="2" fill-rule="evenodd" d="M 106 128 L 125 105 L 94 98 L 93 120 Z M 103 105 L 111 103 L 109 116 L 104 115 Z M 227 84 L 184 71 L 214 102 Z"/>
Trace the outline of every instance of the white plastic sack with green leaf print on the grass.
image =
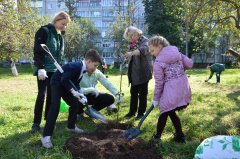
<path id="1" fill-rule="evenodd" d="M 205 139 L 195 151 L 195 159 L 240 159 L 240 137 L 213 136 Z"/>

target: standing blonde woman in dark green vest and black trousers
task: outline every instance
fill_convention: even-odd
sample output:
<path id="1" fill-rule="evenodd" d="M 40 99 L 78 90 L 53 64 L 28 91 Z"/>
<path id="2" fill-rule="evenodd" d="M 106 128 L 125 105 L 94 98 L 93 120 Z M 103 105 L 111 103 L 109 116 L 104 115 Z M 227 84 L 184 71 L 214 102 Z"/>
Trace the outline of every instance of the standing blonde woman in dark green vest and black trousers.
<path id="1" fill-rule="evenodd" d="M 44 54 L 40 44 L 46 44 L 53 57 L 58 63 L 61 63 L 64 54 L 64 40 L 61 32 L 70 23 L 70 17 L 66 12 L 57 13 L 51 23 L 42 26 L 35 34 L 34 42 L 34 71 L 37 76 L 38 95 L 34 109 L 34 120 L 31 133 L 40 130 L 43 103 L 47 92 L 45 116 L 47 119 L 48 110 L 51 104 L 51 87 L 49 85 L 52 74 L 57 70 L 52 61 Z"/>

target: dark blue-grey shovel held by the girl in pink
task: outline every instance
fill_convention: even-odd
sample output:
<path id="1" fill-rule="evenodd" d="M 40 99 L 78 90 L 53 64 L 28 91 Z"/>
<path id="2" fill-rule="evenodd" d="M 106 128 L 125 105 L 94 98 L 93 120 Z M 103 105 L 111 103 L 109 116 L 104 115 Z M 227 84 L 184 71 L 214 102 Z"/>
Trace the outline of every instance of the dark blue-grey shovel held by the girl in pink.
<path id="1" fill-rule="evenodd" d="M 132 139 L 136 138 L 138 135 L 140 135 L 142 133 L 142 131 L 140 130 L 140 127 L 143 123 L 143 121 L 145 120 L 145 118 L 148 116 L 148 114 L 153 110 L 154 105 L 151 105 L 151 107 L 148 109 L 147 113 L 142 117 L 141 121 L 138 124 L 138 127 L 136 129 L 134 128 L 130 128 L 127 131 L 125 131 L 124 133 L 122 133 L 121 135 L 119 135 L 119 137 L 127 137 L 127 141 L 131 141 Z"/>

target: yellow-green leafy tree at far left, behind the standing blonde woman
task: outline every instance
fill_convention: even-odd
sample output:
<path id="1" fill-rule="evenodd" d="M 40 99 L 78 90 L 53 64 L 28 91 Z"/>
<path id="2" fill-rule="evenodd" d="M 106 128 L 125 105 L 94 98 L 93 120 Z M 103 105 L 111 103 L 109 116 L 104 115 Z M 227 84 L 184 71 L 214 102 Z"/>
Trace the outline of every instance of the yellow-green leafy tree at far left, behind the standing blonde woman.
<path id="1" fill-rule="evenodd" d="M 35 32 L 47 18 L 39 17 L 29 0 L 18 0 L 17 4 L 4 0 L 0 6 L 0 60 L 32 57 Z"/>

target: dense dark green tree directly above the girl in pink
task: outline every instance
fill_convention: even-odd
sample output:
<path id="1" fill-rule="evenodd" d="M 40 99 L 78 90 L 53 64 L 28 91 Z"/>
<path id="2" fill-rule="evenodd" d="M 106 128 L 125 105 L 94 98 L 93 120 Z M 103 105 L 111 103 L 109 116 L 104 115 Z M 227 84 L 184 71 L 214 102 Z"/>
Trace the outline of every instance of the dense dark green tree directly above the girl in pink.
<path id="1" fill-rule="evenodd" d="M 181 11 L 166 0 L 144 0 L 145 23 L 149 35 L 162 35 L 171 45 L 181 47 Z"/>

